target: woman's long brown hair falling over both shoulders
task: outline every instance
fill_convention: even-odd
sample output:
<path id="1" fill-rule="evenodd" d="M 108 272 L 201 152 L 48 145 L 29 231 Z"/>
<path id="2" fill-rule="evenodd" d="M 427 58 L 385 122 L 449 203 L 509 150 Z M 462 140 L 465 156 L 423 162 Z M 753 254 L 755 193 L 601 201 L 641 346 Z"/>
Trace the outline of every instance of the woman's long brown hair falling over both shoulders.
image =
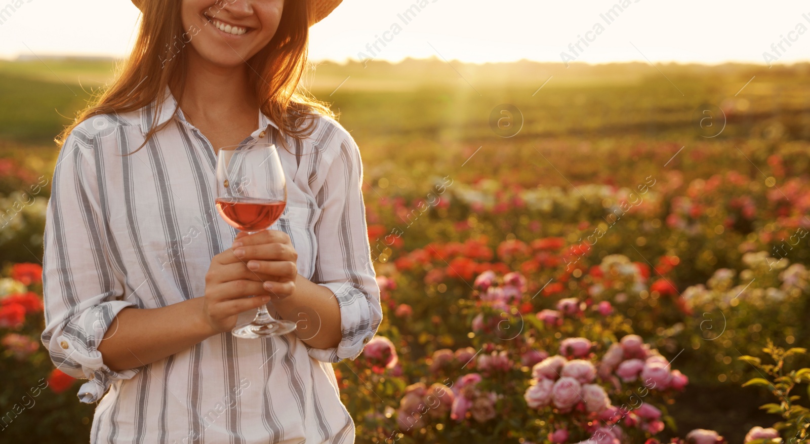
<path id="1" fill-rule="evenodd" d="M 217 3 L 220 2 L 224 0 Z M 309 15 L 313 14 L 308 5 L 308 1 L 285 0 L 275 36 L 246 61 L 250 68 L 249 81 L 262 113 L 279 126 L 282 134 L 296 139 L 305 139 L 311 134 L 313 119 L 309 117 L 318 113 L 335 117 L 325 102 L 298 88 L 307 58 Z M 187 43 L 186 36 L 193 33 L 183 29 L 181 0 L 143 0 L 141 6 L 143 19 L 130 57 L 117 67 L 112 85 L 97 93 L 91 105 L 80 111 L 75 121 L 57 136 L 55 141 L 59 147 L 70 131 L 85 119 L 141 109 L 156 98 L 161 100 L 168 85 L 182 85 L 188 70 L 188 59 L 182 49 Z M 182 96 L 182 87 L 180 91 Z M 180 100 L 178 97 L 177 102 Z M 158 108 L 162 105 L 159 103 Z M 160 113 L 155 112 L 153 116 L 141 147 L 162 129 L 156 127 Z M 301 125 L 301 122 L 306 124 Z"/>

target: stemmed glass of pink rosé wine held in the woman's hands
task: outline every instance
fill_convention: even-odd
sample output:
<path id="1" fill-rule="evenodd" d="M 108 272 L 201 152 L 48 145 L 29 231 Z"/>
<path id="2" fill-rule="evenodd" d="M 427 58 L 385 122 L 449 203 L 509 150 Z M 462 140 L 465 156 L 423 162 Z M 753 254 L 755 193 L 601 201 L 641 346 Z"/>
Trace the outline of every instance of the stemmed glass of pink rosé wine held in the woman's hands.
<path id="1" fill-rule="evenodd" d="M 233 228 L 249 234 L 267 229 L 287 205 L 287 181 L 275 144 L 257 140 L 221 147 L 216 161 L 216 209 Z M 240 338 L 285 335 L 296 323 L 273 318 L 267 306 L 258 308 L 254 320 L 234 327 Z"/>

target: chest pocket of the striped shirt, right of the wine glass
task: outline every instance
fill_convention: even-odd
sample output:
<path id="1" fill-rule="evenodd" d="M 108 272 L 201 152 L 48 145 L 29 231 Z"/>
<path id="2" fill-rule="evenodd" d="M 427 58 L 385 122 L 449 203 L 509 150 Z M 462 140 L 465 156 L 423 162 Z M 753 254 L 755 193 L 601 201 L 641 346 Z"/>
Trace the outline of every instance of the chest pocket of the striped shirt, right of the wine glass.
<path id="1" fill-rule="evenodd" d="M 298 207 L 287 204 L 284 214 L 276 225 L 281 231 L 287 233 L 292 241 L 292 247 L 298 254 L 298 274 L 311 279 L 315 271 L 315 258 L 318 253 L 318 238 L 315 237 L 315 223 L 318 221 L 321 210 L 318 207 Z"/>

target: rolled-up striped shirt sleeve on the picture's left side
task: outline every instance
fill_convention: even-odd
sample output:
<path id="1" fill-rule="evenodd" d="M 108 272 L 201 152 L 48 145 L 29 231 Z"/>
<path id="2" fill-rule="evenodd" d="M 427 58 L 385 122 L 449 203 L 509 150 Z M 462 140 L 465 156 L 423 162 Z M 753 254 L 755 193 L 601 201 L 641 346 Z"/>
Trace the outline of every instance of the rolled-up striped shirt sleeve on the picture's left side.
<path id="1" fill-rule="evenodd" d="M 113 381 L 139 369 L 113 371 L 98 346 L 118 312 L 134 305 L 122 301 L 121 274 L 109 258 L 99 199 L 98 140 L 77 128 L 66 139 L 53 172 L 45 218 L 42 344 L 51 361 L 74 378 L 86 378 L 79 399 L 100 399 Z"/>

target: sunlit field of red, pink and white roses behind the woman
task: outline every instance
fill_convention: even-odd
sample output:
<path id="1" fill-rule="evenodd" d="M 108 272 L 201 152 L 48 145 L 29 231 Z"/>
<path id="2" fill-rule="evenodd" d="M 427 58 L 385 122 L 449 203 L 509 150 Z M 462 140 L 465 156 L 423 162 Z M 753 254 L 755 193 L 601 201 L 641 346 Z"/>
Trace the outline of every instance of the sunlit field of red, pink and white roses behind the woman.
<path id="1" fill-rule="evenodd" d="M 53 137 L 112 72 L 0 62 L 4 440 L 89 431 L 79 382 L 36 344 L 36 267 Z M 743 442 L 780 421 L 784 442 L 807 442 L 808 75 L 312 66 L 305 86 L 360 146 L 383 293 L 378 338 L 335 365 L 357 442 L 670 442 L 693 429 Z M 43 380 L 36 405 L 8 413 Z"/>

